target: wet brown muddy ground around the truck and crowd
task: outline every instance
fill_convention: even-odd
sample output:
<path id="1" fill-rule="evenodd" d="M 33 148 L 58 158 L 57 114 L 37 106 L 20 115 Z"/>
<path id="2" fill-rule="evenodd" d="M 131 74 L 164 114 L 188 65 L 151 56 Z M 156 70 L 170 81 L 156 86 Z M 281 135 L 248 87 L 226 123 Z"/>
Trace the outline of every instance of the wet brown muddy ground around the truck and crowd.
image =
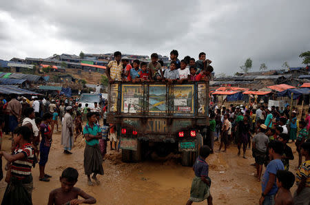
<path id="1" fill-rule="evenodd" d="M 3 150 L 10 148 L 9 136 L 4 136 Z M 185 204 L 194 177 L 191 167 L 178 163 L 176 156 L 162 161 L 146 161 L 136 164 L 121 162 L 121 153 L 110 151 L 103 162 L 105 175 L 99 176 L 99 186 L 87 186 L 87 177 L 83 171 L 84 143 L 81 137 L 75 143 L 73 155 L 64 155 L 60 145 L 60 132 L 54 133 L 50 158 L 46 173 L 52 175 L 50 182 L 39 181 L 39 167 L 32 169 L 34 191 L 32 200 L 35 205 L 47 204 L 48 195 L 54 188 L 60 187 L 59 176 L 63 169 L 72 166 L 79 171 L 76 186 L 96 197 L 97 204 Z M 295 157 L 296 151 L 293 144 Z M 218 144 L 216 144 L 218 147 Z M 254 162 L 251 151 L 247 159 L 237 156 L 237 149 L 231 146 L 227 153 L 215 153 L 207 158 L 209 177 L 211 177 L 211 195 L 214 204 L 258 204 L 260 182 L 254 177 Z M 5 160 L 3 160 L 4 170 Z M 291 171 L 297 159 L 291 162 Z M 6 182 L 0 182 L 0 198 L 6 188 Z M 295 191 L 293 186 L 292 191 Z M 204 202 L 202 204 L 207 204 Z"/>

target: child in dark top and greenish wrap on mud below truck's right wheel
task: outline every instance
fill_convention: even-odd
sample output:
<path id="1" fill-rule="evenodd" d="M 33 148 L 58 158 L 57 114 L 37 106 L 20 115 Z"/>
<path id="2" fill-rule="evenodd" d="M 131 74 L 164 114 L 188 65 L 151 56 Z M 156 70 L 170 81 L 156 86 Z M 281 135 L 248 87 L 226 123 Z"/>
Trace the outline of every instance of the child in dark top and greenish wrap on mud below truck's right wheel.
<path id="1" fill-rule="evenodd" d="M 192 181 L 191 197 L 189 197 L 187 205 L 193 202 L 203 202 L 205 199 L 207 199 L 208 205 L 212 204 L 209 164 L 205 161 L 209 154 L 210 148 L 207 145 L 200 147 L 199 156 L 193 166 L 195 177 Z"/>

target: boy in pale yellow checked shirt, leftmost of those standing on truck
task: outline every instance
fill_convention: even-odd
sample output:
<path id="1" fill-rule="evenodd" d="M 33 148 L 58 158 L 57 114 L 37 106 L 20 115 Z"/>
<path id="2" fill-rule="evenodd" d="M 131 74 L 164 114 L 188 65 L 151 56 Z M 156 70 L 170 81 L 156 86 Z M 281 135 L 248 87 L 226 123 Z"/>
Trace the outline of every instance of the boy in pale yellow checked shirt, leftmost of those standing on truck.
<path id="1" fill-rule="evenodd" d="M 107 78 L 110 82 L 113 82 L 114 80 L 122 80 L 123 64 L 121 62 L 121 57 L 121 52 L 114 52 L 114 61 L 110 61 L 110 63 L 107 64 L 105 74 L 107 74 Z"/>

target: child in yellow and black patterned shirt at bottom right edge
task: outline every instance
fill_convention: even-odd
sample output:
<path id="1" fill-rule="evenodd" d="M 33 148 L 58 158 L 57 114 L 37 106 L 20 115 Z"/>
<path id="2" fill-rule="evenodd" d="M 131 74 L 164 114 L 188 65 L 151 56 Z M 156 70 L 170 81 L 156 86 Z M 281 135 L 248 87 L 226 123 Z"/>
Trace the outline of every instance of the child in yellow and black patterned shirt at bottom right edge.
<path id="1" fill-rule="evenodd" d="M 294 193 L 293 200 L 294 204 L 310 204 L 310 142 L 304 142 L 300 151 L 305 158 L 305 162 L 296 172 L 298 188 Z"/>

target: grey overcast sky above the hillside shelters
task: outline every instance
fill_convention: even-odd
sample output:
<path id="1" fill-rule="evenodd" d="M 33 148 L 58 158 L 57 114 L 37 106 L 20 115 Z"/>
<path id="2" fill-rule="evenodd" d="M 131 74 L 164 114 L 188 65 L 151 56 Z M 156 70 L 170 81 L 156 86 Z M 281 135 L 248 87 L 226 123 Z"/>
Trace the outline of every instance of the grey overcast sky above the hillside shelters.
<path id="1" fill-rule="evenodd" d="M 287 61 L 298 67 L 310 50 L 310 1 L 3 0 L 0 59 L 52 54 L 152 52 L 198 58 L 233 74 L 247 58 L 253 70 Z"/>

